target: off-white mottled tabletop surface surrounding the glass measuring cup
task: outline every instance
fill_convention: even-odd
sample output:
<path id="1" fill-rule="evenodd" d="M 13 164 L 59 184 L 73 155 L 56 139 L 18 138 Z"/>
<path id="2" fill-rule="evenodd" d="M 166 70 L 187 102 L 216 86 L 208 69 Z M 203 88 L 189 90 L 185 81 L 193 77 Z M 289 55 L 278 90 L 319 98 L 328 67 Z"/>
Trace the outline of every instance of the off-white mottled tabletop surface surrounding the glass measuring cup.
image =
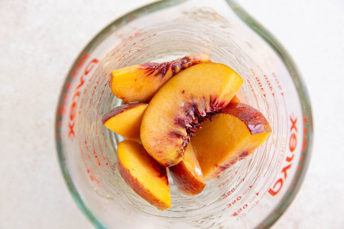
<path id="1" fill-rule="evenodd" d="M 149 2 L 0 1 L 0 228 L 93 228 L 57 162 L 58 94 L 88 41 Z M 344 1 L 239 3 L 290 52 L 313 106 L 309 169 L 273 228 L 344 228 Z"/>

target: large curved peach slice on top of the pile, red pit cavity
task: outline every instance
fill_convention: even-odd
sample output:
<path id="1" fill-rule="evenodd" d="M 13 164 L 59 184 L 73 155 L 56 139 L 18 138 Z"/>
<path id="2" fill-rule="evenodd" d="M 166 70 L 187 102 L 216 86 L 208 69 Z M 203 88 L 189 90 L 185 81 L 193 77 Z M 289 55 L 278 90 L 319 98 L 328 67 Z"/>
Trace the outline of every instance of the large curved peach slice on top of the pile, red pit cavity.
<path id="1" fill-rule="evenodd" d="M 181 71 L 149 102 L 141 123 L 142 145 L 165 167 L 178 164 L 200 123 L 222 111 L 241 84 L 243 79 L 223 64 Z"/>

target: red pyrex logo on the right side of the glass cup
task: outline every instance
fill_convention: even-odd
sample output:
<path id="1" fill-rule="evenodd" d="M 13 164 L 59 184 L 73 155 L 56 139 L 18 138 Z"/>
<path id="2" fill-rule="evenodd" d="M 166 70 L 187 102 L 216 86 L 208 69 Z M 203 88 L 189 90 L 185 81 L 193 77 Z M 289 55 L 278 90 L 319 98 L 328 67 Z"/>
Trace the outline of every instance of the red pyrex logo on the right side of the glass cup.
<path id="1" fill-rule="evenodd" d="M 286 165 L 285 167 L 283 167 L 282 171 L 281 171 L 281 178 L 279 178 L 276 183 L 273 185 L 272 188 L 269 189 L 269 193 L 272 196 L 275 196 L 282 188 L 283 186 L 283 182 L 286 181 L 288 173 L 287 171 L 290 169 L 291 165 L 292 165 L 292 160 L 294 158 L 294 150 L 296 149 L 296 146 L 298 144 L 298 139 L 297 139 L 297 133 L 298 133 L 298 128 L 296 126 L 297 122 L 298 122 L 298 118 L 297 117 L 292 117 L 292 115 L 290 116 L 290 122 L 291 122 L 291 127 L 290 127 L 290 136 L 289 136 L 289 150 L 290 153 L 289 155 L 287 155 L 286 157 L 286 162 L 289 162 L 288 165 Z"/>

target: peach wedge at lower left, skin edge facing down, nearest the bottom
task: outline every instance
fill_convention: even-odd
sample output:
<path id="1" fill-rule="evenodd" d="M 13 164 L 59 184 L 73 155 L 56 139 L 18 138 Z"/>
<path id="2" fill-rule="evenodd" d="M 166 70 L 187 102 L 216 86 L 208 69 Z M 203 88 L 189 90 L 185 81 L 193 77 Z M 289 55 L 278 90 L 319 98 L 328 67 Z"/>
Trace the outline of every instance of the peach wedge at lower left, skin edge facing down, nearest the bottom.
<path id="1" fill-rule="evenodd" d="M 166 168 L 138 142 L 124 140 L 118 144 L 118 170 L 132 190 L 148 203 L 160 210 L 171 207 Z"/>

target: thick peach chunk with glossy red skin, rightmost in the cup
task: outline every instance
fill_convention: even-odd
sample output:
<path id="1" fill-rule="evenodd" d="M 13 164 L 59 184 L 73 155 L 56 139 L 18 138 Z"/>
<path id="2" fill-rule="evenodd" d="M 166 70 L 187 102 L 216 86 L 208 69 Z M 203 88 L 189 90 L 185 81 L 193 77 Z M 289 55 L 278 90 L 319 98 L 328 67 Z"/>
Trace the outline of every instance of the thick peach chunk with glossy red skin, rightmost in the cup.
<path id="1" fill-rule="evenodd" d="M 229 103 L 192 137 L 205 180 L 247 157 L 263 144 L 271 127 L 262 113 L 244 103 Z"/>

